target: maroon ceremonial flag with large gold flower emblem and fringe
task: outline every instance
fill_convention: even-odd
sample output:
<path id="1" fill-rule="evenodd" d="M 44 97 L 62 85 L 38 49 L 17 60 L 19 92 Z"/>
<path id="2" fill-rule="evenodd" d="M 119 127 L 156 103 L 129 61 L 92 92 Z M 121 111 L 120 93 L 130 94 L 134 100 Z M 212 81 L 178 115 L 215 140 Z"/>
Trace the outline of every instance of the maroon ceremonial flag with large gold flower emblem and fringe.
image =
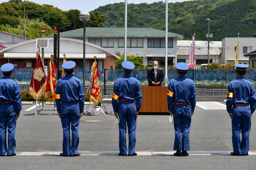
<path id="1" fill-rule="evenodd" d="M 34 99 L 40 97 L 46 88 L 45 69 L 40 56 L 40 49 L 37 51 L 37 61 L 35 62 L 34 71 L 32 74 L 29 93 Z"/>

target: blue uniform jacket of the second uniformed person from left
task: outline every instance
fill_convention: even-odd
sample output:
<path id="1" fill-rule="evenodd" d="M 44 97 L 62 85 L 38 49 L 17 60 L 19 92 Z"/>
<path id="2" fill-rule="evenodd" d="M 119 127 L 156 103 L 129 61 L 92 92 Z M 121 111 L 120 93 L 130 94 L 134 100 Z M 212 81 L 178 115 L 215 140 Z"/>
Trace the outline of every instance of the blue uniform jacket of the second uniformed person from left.
<path id="1" fill-rule="evenodd" d="M 84 88 L 83 83 L 73 74 L 66 74 L 59 79 L 56 85 L 56 95 L 60 94 L 60 99 L 56 98 L 56 107 L 60 113 L 60 102 L 78 101 L 80 113 L 84 111 Z"/>

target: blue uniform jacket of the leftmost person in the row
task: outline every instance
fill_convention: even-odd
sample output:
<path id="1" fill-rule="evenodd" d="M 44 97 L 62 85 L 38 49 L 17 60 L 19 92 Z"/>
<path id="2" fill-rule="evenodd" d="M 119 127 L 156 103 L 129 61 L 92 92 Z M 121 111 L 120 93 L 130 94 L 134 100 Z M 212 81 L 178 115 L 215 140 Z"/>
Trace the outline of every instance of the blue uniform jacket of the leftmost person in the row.
<path id="1" fill-rule="evenodd" d="M 11 77 L 4 76 L 0 80 L 0 102 L 14 101 L 16 115 L 20 115 L 22 108 L 20 86 Z"/>

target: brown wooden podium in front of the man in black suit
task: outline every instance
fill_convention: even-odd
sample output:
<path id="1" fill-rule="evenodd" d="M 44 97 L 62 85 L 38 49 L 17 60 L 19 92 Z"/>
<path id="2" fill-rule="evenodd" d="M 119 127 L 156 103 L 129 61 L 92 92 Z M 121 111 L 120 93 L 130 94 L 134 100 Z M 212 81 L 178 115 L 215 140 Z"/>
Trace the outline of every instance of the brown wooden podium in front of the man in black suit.
<path id="1" fill-rule="evenodd" d="M 167 112 L 167 91 L 168 86 L 141 86 L 142 106 L 139 112 Z"/>

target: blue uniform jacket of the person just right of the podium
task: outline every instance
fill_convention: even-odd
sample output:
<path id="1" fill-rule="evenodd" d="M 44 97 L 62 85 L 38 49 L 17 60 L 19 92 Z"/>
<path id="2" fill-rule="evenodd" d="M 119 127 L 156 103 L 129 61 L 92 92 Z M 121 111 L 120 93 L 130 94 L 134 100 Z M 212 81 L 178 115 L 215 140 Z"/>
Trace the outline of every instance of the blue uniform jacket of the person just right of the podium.
<path id="1" fill-rule="evenodd" d="M 171 79 L 168 86 L 167 102 L 170 112 L 173 111 L 173 102 L 190 103 L 193 112 L 196 107 L 196 87 L 193 80 L 185 76 Z"/>

